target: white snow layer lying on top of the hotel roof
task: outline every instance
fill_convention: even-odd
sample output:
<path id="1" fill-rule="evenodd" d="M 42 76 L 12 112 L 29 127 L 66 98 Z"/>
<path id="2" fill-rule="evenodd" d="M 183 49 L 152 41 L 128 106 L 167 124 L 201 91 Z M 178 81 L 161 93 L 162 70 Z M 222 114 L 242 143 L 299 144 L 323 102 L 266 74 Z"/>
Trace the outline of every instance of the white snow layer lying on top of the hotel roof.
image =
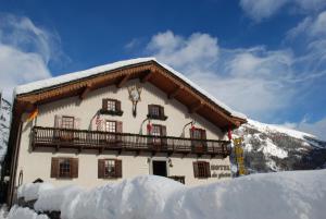
<path id="1" fill-rule="evenodd" d="M 118 61 L 118 62 L 114 62 L 114 63 L 110 63 L 110 64 L 105 64 L 105 65 L 91 68 L 91 69 L 84 70 L 84 71 L 63 74 L 61 76 L 57 76 L 57 77 L 52 77 L 52 78 L 48 78 L 48 80 L 41 80 L 41 81 L 33 82 L 33 83 L 29 83 L 29 84 L 21 85 L 21 86 L 17 86 L 14 89 L 14 96 L 26 94 L 26 93 L 32 93 L 32 92 L 35 92 L 35 90 L 38 90 L 38 89 L 52 87 L 52 86 L 55 86 L 55 85 L 60 85 L 60 84 L 68 83 L 68 82 L 72 82 L 72 81 L 76 81 L 76 80 L 89 77 L 89 76 L 92 76 L 92 75 L 97 75 L 97 74 L 100 74 L 100 73 L 103 73 L 103 72 L 116 70 L 116 69 L 120 69 L 120 68 L 125 68 L 125 66 L 128 66 L 128 65 L 140 64 L 140 63 L 145 63 L 145 62 L 149 62 L 149 61 L 156 62 L 161 66 L 165 68 L 167 71 L 170 71 L 176 77 L 183 80 L 185 83 L 187 83 L 188 85 L 190 85 L 191 87 L 197 89 L 199 93 L 201 93 L 206 98 L 209 98 L 210 100 L 212 100 L 213 102 L 218 105 L 221 108 L 228 111 L 233 117 L 237 117 L 237 118 L 247 120 L 247 117 L 243 113 L 233 110 L 230 107 L 228 107 L 227 105 L 225 105 L 221 100 L 216 99 L 215 97 L 210 95 L 208 92 L 202 89 L 199 85 L 197 85 L 196 83 L 193 83 L 192 81 L 187 78 L 184 74 L 177 72 L 176 70 L 174 70 L 173 68 L 171 68 L 171 66 L 168 66 L 164 63 L 159 62 L 155 58 L 152 58 L 152 57 Z"/>

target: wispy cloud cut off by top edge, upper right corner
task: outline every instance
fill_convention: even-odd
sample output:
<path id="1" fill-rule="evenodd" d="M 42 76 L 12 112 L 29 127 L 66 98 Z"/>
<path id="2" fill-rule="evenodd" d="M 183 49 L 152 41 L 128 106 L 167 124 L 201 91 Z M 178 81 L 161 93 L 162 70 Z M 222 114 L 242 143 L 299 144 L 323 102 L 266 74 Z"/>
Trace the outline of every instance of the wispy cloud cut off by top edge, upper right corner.
<path id="1" fill-rule="evenodd" d="M 311 13 L 326 7 L 326 0 L 240 0 L 242 10 L 256 22 L 273 16 L 285 5 L 299 13 Z"/>

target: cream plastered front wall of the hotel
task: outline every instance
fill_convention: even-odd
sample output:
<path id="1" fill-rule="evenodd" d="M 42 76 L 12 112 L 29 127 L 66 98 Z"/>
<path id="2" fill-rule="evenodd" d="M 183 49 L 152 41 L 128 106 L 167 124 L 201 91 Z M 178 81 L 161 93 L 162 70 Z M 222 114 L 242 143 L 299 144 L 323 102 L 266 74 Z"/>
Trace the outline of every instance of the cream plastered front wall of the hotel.
<path id="1" fill-rule="evenodd" d="M 137 105 L 137 117 L 133 117 L 133 104 L 128 98 L 128 86 L 138 85 L 142 87 L 141 101 Z M 167 120 L 152 120 L 153 124 L 162 124 L 166 126 L 167 136 L 181 136 L 185 124 L 196 121 L 196 127 L 201 127 L 206 131 L 208 139 L 227 139 L 224 133 L 201 118 L 193 113 L 189 114 L 186 106 L 177 100 L 168 99 L 166 94 L 151 85 L 150 83 L 139 83 L 139 80 L 133 80 L 126 83 L 122 88 L 109 86 L 90 92 L 85 99 L 80 100 L 78 97 L 61 99 L 54 102 L 38 106 L 38 117 L 33 122 L 26 122 L 27 113 L 23 114 L 23 127 L 20 141 L 20 151 L 17 159 L 17 174 L 16 183 L 18 183 L 20 172 L 23 173 L 23 183 L 33 182 L 40 178 L 46 182 L 55 185 L 78 184 L 86 187 L 101 185 L 109 182 L 116 182 L 123 179 L 133 178 L 139 174 L 152 173 L 153 160 L 166 160 L 168 175 L 184 175 L 186 185 L 197 185 L 202 183 L 216 182 L 222 179 L 227 179 L 230 173 L 229 168 L 226 170 L 213 170 L 213 166 L 229 167 L 229 158 L 211 158 L 210 156 L 202 156 L 198 158 L 196 155 L 188 155 L 183 158 L 181 155 L 172 155 L 167 157 L 166 154 L 151 154 L 141 153 L 122 153 L 106 151 L 99 154 L 98 150 L 83 150 L 78 153 L 74 149 L 59 150 L 54 149 L 36 149 L 32 150 L 30 131 L 34 125 L 43 127 L 54 126 L 55 115 L 72 115 L 80 119 L 79 129 L 95 130 L 95 115 L 102 107 L 103 98 L 117 99 L 122 104 L 123 115 L 101 115 L 101 119 L 122 121 L 124 133 L 147 134 L 147 119 L 148 105 L 160 105 L 164 107 Z M 142 124 L 142 125 L 141 125 Z M 185 129 L 185 137 L 189 138 L 189 129 Z M 52 157 L 73 157 L 78 158 L 78 178 L 75 179 L 54 179 L 50 178 L 51 158 Z M 120 179 L 98 179 L 98 159 L 114 158 L 122 160 L 122 174 Z M 209 161 L 211 165 L 211 173 L 214 178 L 197 179 L 193 177 L 192 162 L 197 160 Z M 221 168 L 220 168 L 221 169 Z M 223 168 L 222 168 L 223 169 Z M 220 175 L 220 178 L 218 178 Z M 226 177 L 226 178 L 225 178 Z"/>

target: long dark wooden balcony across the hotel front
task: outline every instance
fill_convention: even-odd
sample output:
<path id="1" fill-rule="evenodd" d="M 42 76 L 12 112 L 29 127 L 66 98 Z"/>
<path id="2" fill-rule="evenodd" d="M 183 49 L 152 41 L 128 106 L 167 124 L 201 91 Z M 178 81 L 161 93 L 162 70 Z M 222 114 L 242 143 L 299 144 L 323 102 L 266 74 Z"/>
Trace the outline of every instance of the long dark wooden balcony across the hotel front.
<path id="1" fill-rule="evenodd" d="M 228 141 L 191 139 L 173 136 L 152 136 L 130 133 L 109 133 L 87 130 L 63 130 L 54 127 L 34 126 L 32 130 L 32 147 L 37 148 L 73 148 L 79 151 L 86 149 L 135 151 L 140 153 L 166 153 L 195 154 L 211 157 L 229 155 Z"/>

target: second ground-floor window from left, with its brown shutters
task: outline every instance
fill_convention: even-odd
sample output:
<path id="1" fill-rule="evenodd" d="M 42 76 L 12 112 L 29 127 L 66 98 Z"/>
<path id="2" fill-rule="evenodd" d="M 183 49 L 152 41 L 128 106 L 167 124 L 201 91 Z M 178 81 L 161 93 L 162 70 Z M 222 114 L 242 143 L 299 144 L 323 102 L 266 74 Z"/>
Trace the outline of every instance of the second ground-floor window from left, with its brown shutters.
<path id="1" fill-rule="evenodd" d="M 98 178 L 122 178 L 122 160 L 117 159 L 99 159 Z"/>

